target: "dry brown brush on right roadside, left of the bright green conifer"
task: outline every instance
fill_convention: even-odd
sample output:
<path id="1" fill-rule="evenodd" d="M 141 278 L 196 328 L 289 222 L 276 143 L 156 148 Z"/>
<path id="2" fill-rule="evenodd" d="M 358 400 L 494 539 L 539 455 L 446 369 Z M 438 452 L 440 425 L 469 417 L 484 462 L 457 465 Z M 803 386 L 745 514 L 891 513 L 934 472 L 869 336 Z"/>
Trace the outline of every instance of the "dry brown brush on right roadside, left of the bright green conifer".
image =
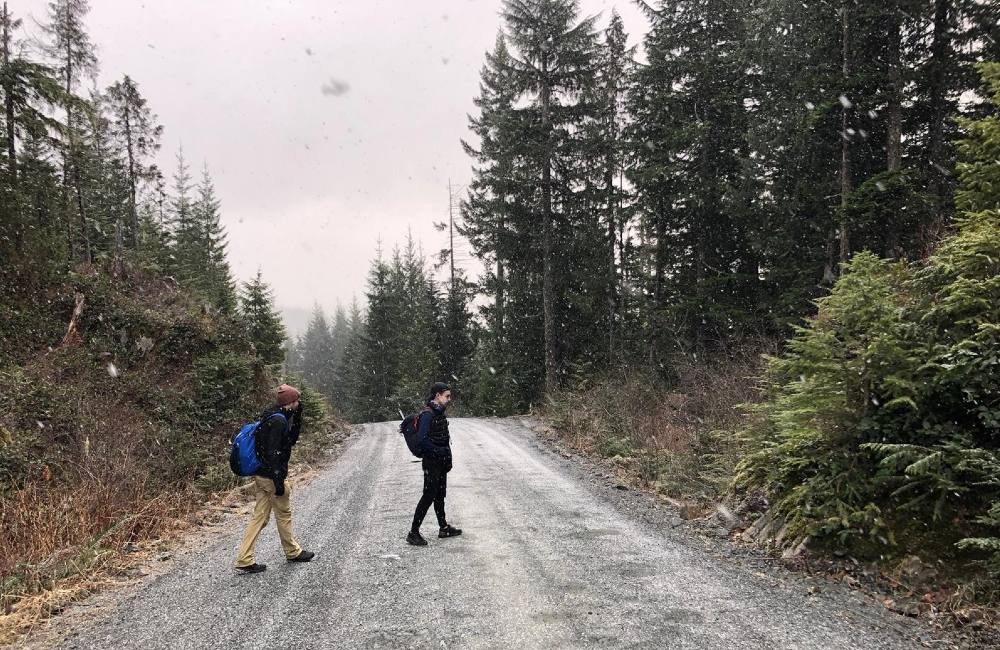
<path id="1" fill-rule="evenodd" d="M 761 355 L 771 351 L 758 342 L 708 362 L 678 356 L 669 383 L 627 370 L 558 395 L 542 415 L 572 446 L 615 459 L 640 484 L 711 498 L 728 485 L 740 452 L 740 407 L 760 399 Z"/>

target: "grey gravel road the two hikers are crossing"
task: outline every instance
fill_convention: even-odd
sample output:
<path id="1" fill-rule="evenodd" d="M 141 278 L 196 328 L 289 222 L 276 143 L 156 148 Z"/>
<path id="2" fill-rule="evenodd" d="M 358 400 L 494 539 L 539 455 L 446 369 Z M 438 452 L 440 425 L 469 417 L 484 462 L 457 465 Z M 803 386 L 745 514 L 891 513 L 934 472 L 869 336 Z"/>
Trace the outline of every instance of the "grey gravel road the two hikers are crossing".
<path id="1" fill-rule="evenodd" d="M 292 494 L 238 575 L 242 532 L 177 561 L 64 648 L 914 648 L 917 622 L 846 589 L 717 552 L 651 499 L 601 484 L 517 420 L 451 421 L 448 513 L 465 535 L 403 538 L 421 471 L 395 423 L 366 425 Z M 431 535 L 431 533 L 434 533 Z M 940 646 L 939 646 L 940 647 Z"/>

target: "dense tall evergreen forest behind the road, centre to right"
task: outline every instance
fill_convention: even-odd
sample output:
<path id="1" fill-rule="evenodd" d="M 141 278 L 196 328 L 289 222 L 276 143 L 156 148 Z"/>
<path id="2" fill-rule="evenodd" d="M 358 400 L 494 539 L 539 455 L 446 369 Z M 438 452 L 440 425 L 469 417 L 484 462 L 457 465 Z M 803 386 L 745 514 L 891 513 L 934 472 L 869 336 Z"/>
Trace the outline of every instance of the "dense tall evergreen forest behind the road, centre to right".
<path id="1" fill-rule="evenodd" d="M 641 4 L 639 52 L 617 14 L 504 4 L 457 223 L 483 277 L 438 282 L 450 249 L 401 236 L 290 346 L 352 419 L 437 377 L 497 414 L 623 367 L 669 381 L 677 353 L 790 335 L 855 253 L 924 259 L 951 227 L 995 3 Z"/>

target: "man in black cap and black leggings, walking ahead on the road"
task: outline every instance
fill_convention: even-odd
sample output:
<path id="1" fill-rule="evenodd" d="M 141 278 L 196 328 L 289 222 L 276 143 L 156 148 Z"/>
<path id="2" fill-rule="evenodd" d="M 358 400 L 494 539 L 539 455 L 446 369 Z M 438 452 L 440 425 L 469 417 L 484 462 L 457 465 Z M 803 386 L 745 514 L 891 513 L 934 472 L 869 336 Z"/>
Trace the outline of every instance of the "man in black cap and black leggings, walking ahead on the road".
<path id="1" fill-rule="evenodd" d="M 438 520 L 438 537 L 455 537 L 462 531 L 448 524 L 444 513 L 444 498 L 448 488 L 448 472 L 451 471 L 451 437 L 448 434 L 448 418 L 444 411 L 451 401 L 451 388 L 438 382 L 431 386 L 426 406 L 417 416 L 417 449 L 424 469 L 424 492 L 413 514 L 413 526 L 406 541 L 414 546 L 427 546 L 427 540 L 420 534 L 420 525 L 427 510 L 434 504 L 434 514 Z"/>

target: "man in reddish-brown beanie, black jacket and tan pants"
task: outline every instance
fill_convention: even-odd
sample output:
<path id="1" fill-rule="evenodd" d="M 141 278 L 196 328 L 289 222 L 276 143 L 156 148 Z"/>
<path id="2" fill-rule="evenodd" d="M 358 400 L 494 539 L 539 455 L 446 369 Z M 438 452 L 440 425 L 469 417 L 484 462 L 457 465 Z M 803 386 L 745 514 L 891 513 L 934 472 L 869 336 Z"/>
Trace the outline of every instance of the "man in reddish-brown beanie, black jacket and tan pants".
<path id="1" fill-rule="evenodd" d="M 301 429 L 302 403 L 299 401 L 299 391 L 288 384 L 282 384 L 277 390 L 277 402 L 264 411 L 260 417 L 260 426 L 257 427 L 257 455 L 261 462 L 260 470 L 253 477 L 257 503 L 236 557 L 236 568 L 240 571 L 260 573 L 267 568 L 267 565 L 254 561 L 253 547 L 260 531 L 271 518 L 272 510 L 285 558 L 289 562 L 308 562 L 315 557 L 314 553 L 302 550 L 292 535 L 292 509 L 288 502 L 291 488 L 285 485 L 288 460 L 292 455 L 292 447 L 299 440 Z"/>

